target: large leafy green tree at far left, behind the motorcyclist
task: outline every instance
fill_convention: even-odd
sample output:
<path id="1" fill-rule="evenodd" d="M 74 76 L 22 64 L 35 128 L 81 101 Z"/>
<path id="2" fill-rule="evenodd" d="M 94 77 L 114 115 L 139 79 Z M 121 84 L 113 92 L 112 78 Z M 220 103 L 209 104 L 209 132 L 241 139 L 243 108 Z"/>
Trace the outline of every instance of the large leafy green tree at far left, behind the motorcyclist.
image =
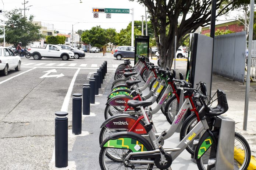
<path id="1" fill-rule="evenodd" d="M 26 47 L 26 45 L 43 37 L 39 31 L 41 26 L 32 23 L 33 15 L 30 15 L 29 18 L 21 18 L 19 10 L 15 9 L 5 12 L 5 17 L 7 18 L 5 21 L 5 38 L 7 43 L 16 46 L 18 42 L 22 42 L 22 45 Z M 1 29 L 0 34 L 3 35 L 3 29 Z"/>

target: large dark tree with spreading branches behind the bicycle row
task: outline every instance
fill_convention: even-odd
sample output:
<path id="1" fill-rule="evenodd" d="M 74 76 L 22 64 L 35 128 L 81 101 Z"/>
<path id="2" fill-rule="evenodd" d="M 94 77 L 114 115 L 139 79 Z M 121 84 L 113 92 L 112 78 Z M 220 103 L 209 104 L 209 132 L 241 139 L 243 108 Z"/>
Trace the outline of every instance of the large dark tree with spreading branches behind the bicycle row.
<path id="1" fill-rule="evenodd" d="M 173 64 L 175 35 L 177 36 L 176 47 L 178 48 L 181 42 L 188 37 L 186 37 L 187 34 L 195 32 L 199 26 L 206 26 L 210 23 L 211 0 L 136 1 L 145 4 L 148 9 L 161 56 L 161 66 L 164 68 L 166 66 L 171 68 Z M 216 16 L 224 15 L 228 11 L 240 7 L 243 3 L 249 3 L 249 0 L 217 0 Z M 181 19 L 179 24 L 178 19 Z"/>

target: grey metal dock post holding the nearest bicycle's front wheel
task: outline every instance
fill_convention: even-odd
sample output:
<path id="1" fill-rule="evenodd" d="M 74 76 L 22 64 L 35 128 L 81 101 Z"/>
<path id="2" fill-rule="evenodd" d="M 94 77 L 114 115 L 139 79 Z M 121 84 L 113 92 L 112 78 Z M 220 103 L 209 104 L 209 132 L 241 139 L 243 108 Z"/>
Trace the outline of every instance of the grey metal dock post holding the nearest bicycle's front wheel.
<path id="1" fill-rule="evenodd" d="M 233 170 L 235 121 L 231 118 L 224 116 L 218 117 L 221 118 L 221 125 L 218 137 L 215 169 Z"/>

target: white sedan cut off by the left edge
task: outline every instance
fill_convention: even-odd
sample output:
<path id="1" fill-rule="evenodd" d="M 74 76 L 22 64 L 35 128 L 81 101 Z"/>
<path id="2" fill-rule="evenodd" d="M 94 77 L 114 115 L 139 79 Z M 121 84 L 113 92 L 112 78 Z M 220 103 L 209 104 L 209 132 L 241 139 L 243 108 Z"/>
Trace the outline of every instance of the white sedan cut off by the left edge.
<path id="1" fill-rule="evenodd" d="M 3 75 L 8 74 L 8 70 L 15 69 L 19 71 L 21 69 L 21 58 L 14 54 L 14 52 L 8 47 L 0 47 L 0 70 Z"/>

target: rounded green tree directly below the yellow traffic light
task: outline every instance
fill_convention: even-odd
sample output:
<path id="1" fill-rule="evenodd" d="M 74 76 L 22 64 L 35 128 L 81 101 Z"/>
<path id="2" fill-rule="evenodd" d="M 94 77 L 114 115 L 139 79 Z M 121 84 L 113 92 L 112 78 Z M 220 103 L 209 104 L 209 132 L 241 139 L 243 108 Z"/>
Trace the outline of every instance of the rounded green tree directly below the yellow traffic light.
<path id="1" fill-rule="evenodd" d="M 101 48 L 107 44 L 106 30 L 100 26 L 92 27 L 82 33 L 81 39 L 85 44 Z"/>

